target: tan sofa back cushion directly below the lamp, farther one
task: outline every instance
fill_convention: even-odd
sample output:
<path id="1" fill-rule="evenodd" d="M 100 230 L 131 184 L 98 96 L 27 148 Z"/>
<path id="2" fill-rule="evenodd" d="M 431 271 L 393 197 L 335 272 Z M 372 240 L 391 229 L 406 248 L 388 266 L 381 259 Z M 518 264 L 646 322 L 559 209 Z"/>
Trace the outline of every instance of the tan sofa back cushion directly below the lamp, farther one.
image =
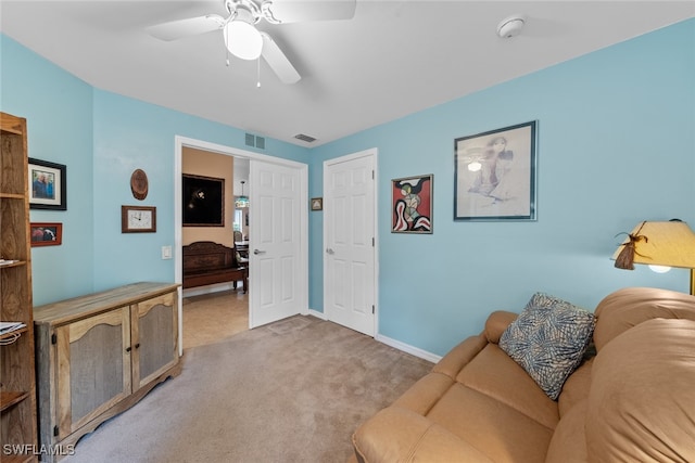
<path id="1" fill-rule="evenodd" d="M 620 333 L 637 324 L 660 319 L 695 320 L 695 296 L 655 287 L 626 287 L 604 297 L 596 306 L 598 319 L 594 331 L 601 350 Z"/>

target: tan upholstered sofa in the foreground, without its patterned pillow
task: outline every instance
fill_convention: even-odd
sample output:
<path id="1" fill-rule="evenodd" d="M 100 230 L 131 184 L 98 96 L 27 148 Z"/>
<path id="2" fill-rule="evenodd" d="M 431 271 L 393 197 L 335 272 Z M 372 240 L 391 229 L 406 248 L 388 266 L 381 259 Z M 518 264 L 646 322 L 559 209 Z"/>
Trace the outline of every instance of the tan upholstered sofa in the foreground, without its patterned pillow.
<path id="1" fill-rule="evenodd" d="M 595 357 L 551 399 L 483 333 L 353 435 L 352 461 L 695 462 L 695 296 L 624 288 L 595 311 Z"/>

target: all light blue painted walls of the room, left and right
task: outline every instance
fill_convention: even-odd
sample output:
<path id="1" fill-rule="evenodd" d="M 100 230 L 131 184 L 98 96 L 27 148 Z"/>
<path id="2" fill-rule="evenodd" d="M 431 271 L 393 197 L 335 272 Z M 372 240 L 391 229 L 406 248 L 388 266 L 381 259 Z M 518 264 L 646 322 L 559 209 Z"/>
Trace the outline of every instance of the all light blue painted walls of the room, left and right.
<path id="1" fill-rule="evenodd" d="M 266 154 L 309 164 L 379 150 L 379 333 L 443 355 L 494 309 L 543 291 L 593 309 L 632 285 L 687 291 L 687 272 L 617 270 L 609 256 L 640 220 L 695 224 L 695 21 L 691 20 L 306 150 L 267 140 Z M 35 248 L 37 304 L 137 280 L 174 279 L 174 136 L 245 149 L 243 131 L 93 89 L 0 36 L 1 110 L 27 117 L 33 157 L 68 166 L 62 246 Z M 243 111 L 243 108 L 239 108 Z M 365 108 L 368 111 L 368 108 Z M 454 222 L 454 139 L 539 121 L 539 219 Z M 143 168 L 157 233 L 121 234 Z M 390 233 L 390 180 L 434 173 L 434 233 Z M 309 214 L 309 307 L 323 310 L 323 213 Z M 144 257 L 139 263 L 134 260 Z"/>

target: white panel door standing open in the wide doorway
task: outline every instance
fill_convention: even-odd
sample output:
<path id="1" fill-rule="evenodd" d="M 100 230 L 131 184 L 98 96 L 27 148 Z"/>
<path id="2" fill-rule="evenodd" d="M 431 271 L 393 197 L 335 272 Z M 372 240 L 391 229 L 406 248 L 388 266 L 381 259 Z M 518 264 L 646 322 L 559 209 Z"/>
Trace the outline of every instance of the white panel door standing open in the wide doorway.
<path id="1" fill-rule="evenodd" d="M 298 168 L 251 160 L 251 327 L 302 310 L 301 176 Z"/>

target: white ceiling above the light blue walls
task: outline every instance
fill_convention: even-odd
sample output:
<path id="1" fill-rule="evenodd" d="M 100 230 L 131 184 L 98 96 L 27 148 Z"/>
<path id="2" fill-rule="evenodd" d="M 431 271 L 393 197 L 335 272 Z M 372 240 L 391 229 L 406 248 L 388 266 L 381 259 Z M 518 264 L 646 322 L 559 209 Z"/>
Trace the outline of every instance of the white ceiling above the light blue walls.
<path id="1" fill-rule="evenodd" d="M 282 1 L 282 0 L 275 0 Z M 146 27 L 223 0 L 8 1 L 0 30 L 99 89 L 317 146 L 695 15 L 693 1 L 372 1 L 349 21 L 258 23 L 302 80 L 231 57 L 222 33 L 173 42 Z M 522 34 L 495 29 L 511 14 Z M 317 139 L 307 144 L 293 138 Z"/>

